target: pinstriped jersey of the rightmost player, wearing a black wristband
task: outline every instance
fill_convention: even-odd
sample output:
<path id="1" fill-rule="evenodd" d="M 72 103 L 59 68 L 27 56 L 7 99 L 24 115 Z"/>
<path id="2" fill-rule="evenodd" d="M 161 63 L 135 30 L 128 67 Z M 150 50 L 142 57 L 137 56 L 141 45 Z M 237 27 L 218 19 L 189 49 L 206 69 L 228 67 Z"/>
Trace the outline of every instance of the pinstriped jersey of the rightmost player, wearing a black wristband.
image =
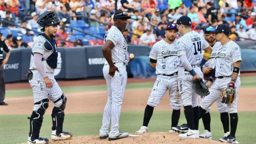
<path id="1" fill-rule="evenodd" d="M 231 76 L 234 69 L 233 63 L 239 60 L 242 60 L 241 48 L 234 41 L 230 40 L 223 47 L 220 47 L 217 52 L 215 77 Z M 240 76 L 240 71 L 238 76 Z"/>

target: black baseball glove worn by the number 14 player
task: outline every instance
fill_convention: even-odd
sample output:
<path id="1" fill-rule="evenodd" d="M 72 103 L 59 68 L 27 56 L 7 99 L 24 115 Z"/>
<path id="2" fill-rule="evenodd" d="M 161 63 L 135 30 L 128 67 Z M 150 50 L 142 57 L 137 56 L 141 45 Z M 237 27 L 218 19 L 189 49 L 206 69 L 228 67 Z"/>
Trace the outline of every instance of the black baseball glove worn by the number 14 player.
<path id="1" fill-rule="evenodd" d="M 192 87 L 199 96 L 208 96 L 210 94 L 202 78 L 193 80 Z"/>

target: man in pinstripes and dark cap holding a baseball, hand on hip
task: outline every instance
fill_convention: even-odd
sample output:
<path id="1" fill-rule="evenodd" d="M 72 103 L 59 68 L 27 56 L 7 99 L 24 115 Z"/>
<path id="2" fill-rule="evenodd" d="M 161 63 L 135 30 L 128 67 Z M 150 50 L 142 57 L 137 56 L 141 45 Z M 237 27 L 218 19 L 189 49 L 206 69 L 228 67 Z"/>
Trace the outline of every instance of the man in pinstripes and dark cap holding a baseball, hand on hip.
<path id="1" fill-rule="evenodd" d="M 127 43 L 122 35 L 122 30 L 126 28 L 127 19 L 131 19 L 128 14 L 118 11 L 114 14 L 114 26 L 112 26 L 104 37 L 102 46 L 105 65 L 103 75 L 107 82 L 108 101 L 104 108 L 102 127 L 100 129 L 100 139 L 116 140 L 125 138 L 129 133 L 120 132 L 119 117 L 121 105 L 123 103 L 124 91 L 127 82 L 126 65 L 128 65 L 129 54 Z M 111 130 L 108 131 L 111 119 Z"/>

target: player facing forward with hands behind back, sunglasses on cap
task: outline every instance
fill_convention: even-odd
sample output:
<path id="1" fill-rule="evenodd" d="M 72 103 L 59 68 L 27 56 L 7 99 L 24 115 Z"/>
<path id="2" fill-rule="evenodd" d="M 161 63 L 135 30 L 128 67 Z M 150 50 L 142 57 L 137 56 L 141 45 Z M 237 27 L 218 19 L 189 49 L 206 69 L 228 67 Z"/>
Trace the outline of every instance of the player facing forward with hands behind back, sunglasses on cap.
<path id="1" fill-rule="evenodd" d="M 178 53 L 177 36 L 178 26 L 168 24 L 165 34 L 166 38 L 155 43 L 150 52 L 150 65 L 156 68 L 156 82 L 148 98 L 144 112 L 143 126 L 136 133 L 148 131 L 148 123 L 156 107 L 166 91 L 169 91 L 172 112 L 172 127 L 178 125 L 180 118 L 181 101 L 178 90 Z M 169 132 L 175 132 L 170 130 Z"/>

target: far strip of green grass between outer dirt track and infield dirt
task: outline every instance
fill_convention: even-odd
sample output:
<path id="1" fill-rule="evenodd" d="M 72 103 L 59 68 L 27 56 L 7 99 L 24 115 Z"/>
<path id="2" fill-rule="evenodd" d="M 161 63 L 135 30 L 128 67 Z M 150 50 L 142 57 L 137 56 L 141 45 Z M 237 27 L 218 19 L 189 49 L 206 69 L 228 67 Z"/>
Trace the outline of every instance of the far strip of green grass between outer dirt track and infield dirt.
<path id="1" fill-rule="evenodd" d="M 240 88 L 256 88 L 256 77 L 243 77 L 241 78 Z M 150 83 L 128 83 L 126 90 L 129 89 L 152 89 L 154 82 Z M 107 90 L 106 85 L 94 85 L 94 86 L 75 86 L 75 87 L 61 87 L 64 93 L 70 92 L 82 92 L 82 91 L 97 91 Z M 32 89 L 20 89 L 20 90 L 7 90 L 6 97 L 19 97 L 19 96 L 32 96 Z"/>

